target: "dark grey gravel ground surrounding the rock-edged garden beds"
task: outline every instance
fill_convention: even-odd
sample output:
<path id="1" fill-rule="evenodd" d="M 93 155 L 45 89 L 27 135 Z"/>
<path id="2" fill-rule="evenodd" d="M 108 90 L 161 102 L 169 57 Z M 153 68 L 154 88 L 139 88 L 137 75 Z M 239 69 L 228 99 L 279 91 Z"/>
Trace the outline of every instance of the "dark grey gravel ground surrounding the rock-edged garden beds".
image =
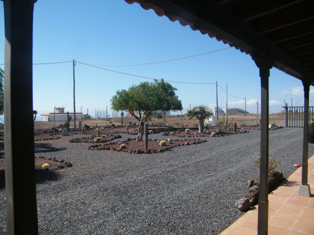
<path id="1" fill-rule="evenodd" d="M 302 136 L 302 128 L 269 132 L 270 155 L 281 161 L 286 177 L 302 161 Z M 68 138 L 73 137 L 62 137 Z M 36 153 L 73 163 L 38 180 L 39 233 L 219 234 L 243 214 L 234 203 L 247 192 L 246 181 L 258 175 L 260 131 L 205 138 L 206 143 L 160 154 L 88 151 L 89 144 L 80 143 Z M 62 147 L 60 139 L 48 142 Z M 5 212 L 2 186 L 0 233 L 6 231 Z"/>

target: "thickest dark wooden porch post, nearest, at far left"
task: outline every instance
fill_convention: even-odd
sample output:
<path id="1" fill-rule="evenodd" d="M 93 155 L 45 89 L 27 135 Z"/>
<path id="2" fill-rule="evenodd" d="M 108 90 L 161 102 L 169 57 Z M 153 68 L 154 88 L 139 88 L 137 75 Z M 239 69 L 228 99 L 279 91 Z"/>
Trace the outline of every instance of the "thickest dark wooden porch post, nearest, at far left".
<path id="1" fill-rule="evenodd" d="M 34 0 L 5 0 L 4 143 L 8 234 L 38 234 L 33 117 Z M 23 115 L 20 115 L 23 113 Z M 23 130 L 25 139 L 17 142 Z M 22 157 L 23 156 L 23 157 Z"/>

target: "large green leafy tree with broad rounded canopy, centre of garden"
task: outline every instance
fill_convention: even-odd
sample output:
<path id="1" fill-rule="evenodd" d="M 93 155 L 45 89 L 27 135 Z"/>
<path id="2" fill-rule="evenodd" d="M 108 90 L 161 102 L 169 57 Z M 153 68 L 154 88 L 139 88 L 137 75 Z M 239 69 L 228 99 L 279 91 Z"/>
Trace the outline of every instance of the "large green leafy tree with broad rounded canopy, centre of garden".
<path id="1" fill-rule="evenodd" d="M 127 110 L 139 121 L 137 140 L 143 138 L 144 123 L 152 117 L 158 117 L 161 111 L 178 111 L 182 109 L 181 100 L 176 96 L 177 89 L 169 83 L 154 80 L 130 86 L 128 90 L 117 91 L 111 98 L 111 109 Z M 138 112 L 138 116 L 136 115 Z"/>

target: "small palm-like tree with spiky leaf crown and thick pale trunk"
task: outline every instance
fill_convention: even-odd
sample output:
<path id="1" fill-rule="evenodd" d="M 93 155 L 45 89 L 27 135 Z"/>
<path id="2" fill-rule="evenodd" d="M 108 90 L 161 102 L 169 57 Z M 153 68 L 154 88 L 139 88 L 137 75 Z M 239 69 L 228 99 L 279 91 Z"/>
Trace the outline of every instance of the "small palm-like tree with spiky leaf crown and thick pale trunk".
<path id="1" fill-rule="evenodd" d="M 192 118 L 198 119 L 198 132 L 203 133 L 205 118 L 212 118 L 214 116 L 214 112 L 208 106 L 200 105 L 194 106 L 192 109 L 188 109 L 184 116 L 187 118 L 187 120 Z"/>

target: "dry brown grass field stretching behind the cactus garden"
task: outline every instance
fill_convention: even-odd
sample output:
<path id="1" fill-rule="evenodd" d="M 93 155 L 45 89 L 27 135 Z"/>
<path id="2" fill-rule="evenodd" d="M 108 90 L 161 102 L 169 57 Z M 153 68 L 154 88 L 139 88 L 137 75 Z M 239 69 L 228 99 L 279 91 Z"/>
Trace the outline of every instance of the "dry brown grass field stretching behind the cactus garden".
<path id="1" fill-rule="evenodd" d="M 226 118 L 226 116 L 225 116 Z M 259 119 L 261 118 L 261 115 L 257 116 L 257 122 L 259 123 Z M 223 120 L 223 115 L 219 115 L 219 120 Z M 123 118 L 124 122 L 131 121 L 136 122 L 135 118 L 130 117 L 129 118 Z M 56 121 L 56 126 L 60 124 L 64 124 L 65 121 Z M 121 118 L 113 118 L 114 124 L 121 124 Z M 164 119 L 157 119 L 153 118 L 151 123 L 164 123 Z M 165 124 L 171 123 L 174 125 L 174 123 L 180 123 L 181 125 L 181 115 L 171 115 L 171 116 L 165 116 Z M 256 114 L 247 114 L 244 116 L 243 114 L 240 115 L 229 115 L 228 116 L 228 122 L 237 123 L 238 126 L 241 125 L 241 123 L 246 123 L 246 125 L 254 125 L 256 122 Z M 194 123 L 198 123 L 198 120 L 186 120 L 184 116 L 182 117 L 182 124 L 184 125 L 187 123 L 189 126 L 192 126 Z M 277 125 L 284 126 L 284 113 L 277 113 L 277 114 L 270 114 L 269 115 L 269 124 L 270 123 L 276 123 Z M 106 119 L 83 119 L 83 125 L 87 124 L 89 126 L 106 126 Z M 109 121 L 108 121 L 108 125 Z M 54 122 L 35 122 L 35 130 L 37 129 L 51 129 L 54 126 Z M 76 126 L 78 127 L 78 120 L 76 121 Z M 71 120 L 70 127 L 74 127 L 74 121 Z"/>

